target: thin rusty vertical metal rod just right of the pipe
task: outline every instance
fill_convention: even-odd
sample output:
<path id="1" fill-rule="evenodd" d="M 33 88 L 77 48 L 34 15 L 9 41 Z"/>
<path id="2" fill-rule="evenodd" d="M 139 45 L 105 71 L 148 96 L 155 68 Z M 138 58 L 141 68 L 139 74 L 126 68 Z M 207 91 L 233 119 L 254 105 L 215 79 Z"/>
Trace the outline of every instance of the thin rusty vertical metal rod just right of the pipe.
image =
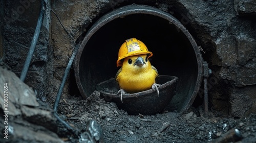
<path id="1" fill-rule="evenodd" d="M 211 69 L 208 67 L 208 63 L 203 61 L 203 77 L 204 77 L 204 114 L 208 117 L 208 77 L 211 74 Z"/>

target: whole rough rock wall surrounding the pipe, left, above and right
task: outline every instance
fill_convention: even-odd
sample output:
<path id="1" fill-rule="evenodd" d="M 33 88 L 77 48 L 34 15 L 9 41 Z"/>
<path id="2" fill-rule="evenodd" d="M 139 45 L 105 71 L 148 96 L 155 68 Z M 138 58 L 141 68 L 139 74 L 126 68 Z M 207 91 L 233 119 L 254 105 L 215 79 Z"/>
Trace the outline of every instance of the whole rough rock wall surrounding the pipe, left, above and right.
<path id="1" fill-rule="evenodd" d="M 30 6 L 0 2 L 0 14 L 4 15 L 0 25 L 0 56 L 17 75 L 24 65 L 40 9 L 40 1 L 21 2 L 29 2 Z M 106 12 L 133 3 L 154 6 L 174 15 L 202 47 L 202 56 L 212 70 L 208 79 L 211 109 L 240 117 L 255 102 L 256 3 L 243 0 L 51 1 L 48 5 L 52 11 L 47 10 L 48 20 L 44 20 L 25 81 L 37 90 L 39 99 L 54 102 L 75 42 L 83 39 L 93 22 Z M 71 70 L 63 98 L 79 94 L 76 90 Z M 202 95 L 199 93 L 199 99 Z"/>

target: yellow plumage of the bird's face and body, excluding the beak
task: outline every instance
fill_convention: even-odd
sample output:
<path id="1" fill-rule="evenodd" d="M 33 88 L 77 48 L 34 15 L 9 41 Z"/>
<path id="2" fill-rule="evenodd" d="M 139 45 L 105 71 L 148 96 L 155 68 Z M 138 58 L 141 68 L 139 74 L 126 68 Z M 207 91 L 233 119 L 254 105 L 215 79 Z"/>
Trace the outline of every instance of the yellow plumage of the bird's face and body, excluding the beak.
<path id="1" fill-rule="evenodd" d="M 158 78 L 158 72 L 150 61 L 146 60 L 146 54 L 126 57 L 122 67 L 116 74 L 116 81 L 120 89 L 124 89 L 128 93 L 135 93 L 152 88 L 152 85 Z M 142 66 L 134 65 L 138 57 L 143 58 Z M 129 63 L 129 59 L 132 63 Z"/>

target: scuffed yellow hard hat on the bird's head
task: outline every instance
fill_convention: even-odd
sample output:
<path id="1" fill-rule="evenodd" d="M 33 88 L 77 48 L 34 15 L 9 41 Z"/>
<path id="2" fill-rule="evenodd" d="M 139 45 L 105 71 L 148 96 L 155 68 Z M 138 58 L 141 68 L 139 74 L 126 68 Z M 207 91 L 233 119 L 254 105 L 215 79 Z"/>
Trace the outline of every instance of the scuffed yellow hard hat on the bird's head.
<path id="1" fill-rule="evenodd" d="M 153 53 L 149 52 L 146 45 L 140 40 L 137 40 L 136 38 L 127 39 L 119 49 L 116 66 L 122 66 L 123 62 L 120 60 L 123 58 L 141 54 L 149 54 L 148 58 L 153 56 Z"/>

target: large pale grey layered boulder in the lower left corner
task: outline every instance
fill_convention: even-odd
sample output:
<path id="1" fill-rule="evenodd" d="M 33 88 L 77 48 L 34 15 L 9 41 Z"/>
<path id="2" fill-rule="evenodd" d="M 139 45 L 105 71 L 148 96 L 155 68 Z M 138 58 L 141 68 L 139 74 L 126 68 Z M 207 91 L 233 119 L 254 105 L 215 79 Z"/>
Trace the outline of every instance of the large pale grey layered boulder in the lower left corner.
<path id="1" fill-rule="evenodd" d="M 20 81 L 12 71 L 1 66 L 0 85 L 3 85 L 1 91 L 6 89 L 6 92 L 0 92 L 0 104 L 4 111 L 9 111 L 6 117 L 10 123 L 8 141 L 63 142 L 52 132 L 56 132 L 58 127 L 52 111 L 40 109 L 34 91 Z"/>

